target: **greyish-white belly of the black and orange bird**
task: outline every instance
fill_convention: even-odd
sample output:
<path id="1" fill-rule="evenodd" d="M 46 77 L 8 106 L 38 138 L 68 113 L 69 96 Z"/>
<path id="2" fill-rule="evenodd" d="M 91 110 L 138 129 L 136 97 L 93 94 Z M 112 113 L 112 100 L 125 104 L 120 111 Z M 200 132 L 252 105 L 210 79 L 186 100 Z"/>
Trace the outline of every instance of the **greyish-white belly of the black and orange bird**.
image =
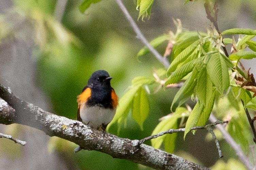
<path id="1" fill-rule="evenodd" d="M 116 109 L 105 109 L 98 106 L 87 107 L 81 106 L 80 117 L 85 124 L 97 129 L 102 124 L 107 125 L 113 119 Z"/>

